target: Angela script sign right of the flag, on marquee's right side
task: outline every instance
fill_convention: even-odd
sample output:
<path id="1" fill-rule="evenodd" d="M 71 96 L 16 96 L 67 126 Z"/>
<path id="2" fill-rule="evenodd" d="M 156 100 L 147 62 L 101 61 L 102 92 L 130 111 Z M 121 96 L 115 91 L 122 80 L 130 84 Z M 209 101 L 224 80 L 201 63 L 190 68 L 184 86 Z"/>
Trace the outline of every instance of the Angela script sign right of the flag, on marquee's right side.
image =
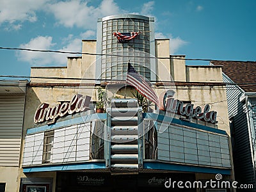
<path id="1" fill-rule="evenodd" d="M 191 121 L 191 118 L 195 118 L 212 124 L 218 123 L 217 111 L 210 111 L 209 104 L 206 104 L 204 109 L 200 106 L 194 108 L 194 104 L 184 104 L 182 100 L 174 99 L 174 94 L 175 92 L 173 90 L 161 93 L 159 97 L 160 110 L 186 116 L 186 118 L 183 119 L 188 121 Z"/>

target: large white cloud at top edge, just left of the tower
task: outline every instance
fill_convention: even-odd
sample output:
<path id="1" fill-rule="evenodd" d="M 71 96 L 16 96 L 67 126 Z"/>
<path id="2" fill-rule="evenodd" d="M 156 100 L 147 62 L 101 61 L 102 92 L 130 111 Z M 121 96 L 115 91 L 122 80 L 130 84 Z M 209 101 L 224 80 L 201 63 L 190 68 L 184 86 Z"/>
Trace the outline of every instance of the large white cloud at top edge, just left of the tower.
<path id="1" fill-rule="evenodd" d="M 48 4 L 47 10 L 54 15 L 58 24 L 86 29 L 95 29 L 98 17 L 122 12 L 113 0 L 103 0 L 98 7 L 88 6 L 81 0 L 60 1 Z"/>

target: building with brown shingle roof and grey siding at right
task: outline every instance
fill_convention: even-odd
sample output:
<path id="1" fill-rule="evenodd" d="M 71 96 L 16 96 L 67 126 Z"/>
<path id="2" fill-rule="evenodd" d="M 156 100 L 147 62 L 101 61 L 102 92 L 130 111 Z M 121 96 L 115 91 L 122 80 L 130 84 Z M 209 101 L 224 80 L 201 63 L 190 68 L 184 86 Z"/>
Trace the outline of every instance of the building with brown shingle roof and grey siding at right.
<path id="1" fill-rule="evenodd" d="M 223 81 L 227 83 L 228 117 L 236 180 L 255 185 L 256 62 L 212 61 L 211 63 L 223 66 Z"/>

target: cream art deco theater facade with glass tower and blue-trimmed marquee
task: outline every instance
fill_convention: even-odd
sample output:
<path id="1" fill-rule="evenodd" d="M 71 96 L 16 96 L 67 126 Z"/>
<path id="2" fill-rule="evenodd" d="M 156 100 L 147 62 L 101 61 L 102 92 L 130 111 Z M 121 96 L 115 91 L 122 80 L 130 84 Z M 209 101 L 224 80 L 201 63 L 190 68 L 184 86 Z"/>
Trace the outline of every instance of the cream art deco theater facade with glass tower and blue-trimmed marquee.
<path id="1" fill-rule="evenodd" d="M 207 180 L 234 180 L 221 66 L 170 56 L 142 15 L 100 18 L 97 40 L 82 42 L 67 66 L 31 68 L 20 191 L 210 191 Z M 128 63 L 150 82 L 140 92 Z"/>

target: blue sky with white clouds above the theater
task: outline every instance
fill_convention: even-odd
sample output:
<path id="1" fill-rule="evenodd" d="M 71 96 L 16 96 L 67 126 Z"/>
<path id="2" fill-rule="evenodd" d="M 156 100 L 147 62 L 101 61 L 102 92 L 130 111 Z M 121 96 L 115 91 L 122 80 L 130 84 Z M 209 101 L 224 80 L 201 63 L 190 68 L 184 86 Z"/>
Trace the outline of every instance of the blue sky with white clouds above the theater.
<path id="1" fill-rule="evenodd" d="M 255 0 L 0 0 L 0 47 L 81 52 L 82 39 L 96 39 L 99 17 L 134 13 L 155 18 L 155 37 L 170 38 L 170 54 L 256 61 L 255 8 Z M 0 76 L 66 66 L 67 56 L 0 49 Z"/>

